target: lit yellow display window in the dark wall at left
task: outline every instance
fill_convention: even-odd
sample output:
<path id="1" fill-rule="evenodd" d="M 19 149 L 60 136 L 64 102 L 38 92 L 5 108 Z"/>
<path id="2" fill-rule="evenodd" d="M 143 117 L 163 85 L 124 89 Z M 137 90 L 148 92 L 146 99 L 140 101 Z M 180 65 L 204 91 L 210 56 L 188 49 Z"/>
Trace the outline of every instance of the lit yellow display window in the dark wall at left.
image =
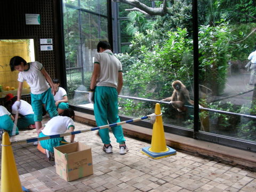
<path id="1" fill-rule="evenodd" d="M 34 39 L 0 39 L 0 98 L 7 93 L 17 94 L 19 71 L 11 71 L 12 57 L 20 56 L 27 62 L 35 61 Z M 29 94 L 30 87 L 25 81 L 22 94 Z"/>

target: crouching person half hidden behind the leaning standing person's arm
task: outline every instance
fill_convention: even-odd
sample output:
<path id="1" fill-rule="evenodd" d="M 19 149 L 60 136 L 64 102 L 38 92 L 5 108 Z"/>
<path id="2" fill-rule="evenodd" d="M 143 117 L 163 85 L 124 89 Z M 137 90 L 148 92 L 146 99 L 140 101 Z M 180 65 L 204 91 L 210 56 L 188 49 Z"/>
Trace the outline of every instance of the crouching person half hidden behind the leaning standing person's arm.
<path id="1" fill-rule="evenodd" d="M 60 87 L 59 79 L 52 79 L 53 85 L 56 89 L 56 94 L 54 95 L 55 106 L 57 107 L 58 114 L 63 113 L 65 109 L 68 109 L 68 96 L 65 89 Z"/>

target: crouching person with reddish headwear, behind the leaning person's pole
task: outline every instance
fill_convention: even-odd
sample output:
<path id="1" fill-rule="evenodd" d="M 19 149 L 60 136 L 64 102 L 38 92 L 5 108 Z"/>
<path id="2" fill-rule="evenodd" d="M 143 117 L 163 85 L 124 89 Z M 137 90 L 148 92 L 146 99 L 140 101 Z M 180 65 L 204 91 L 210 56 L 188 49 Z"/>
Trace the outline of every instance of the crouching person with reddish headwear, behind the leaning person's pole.
<path id="1" fill-rule="evenodd" d="M 18 108 L 14 103 L 17 101 L 17 96 L 8 93 L 5 96 L 5 106 L 10 108 L 12 114 L 19 114 L 20 117 L 17 121 L 19 130 L 35 129 L 34 112 L 32 106 L 24 100 L 20 100 L 20 107 Z"/>

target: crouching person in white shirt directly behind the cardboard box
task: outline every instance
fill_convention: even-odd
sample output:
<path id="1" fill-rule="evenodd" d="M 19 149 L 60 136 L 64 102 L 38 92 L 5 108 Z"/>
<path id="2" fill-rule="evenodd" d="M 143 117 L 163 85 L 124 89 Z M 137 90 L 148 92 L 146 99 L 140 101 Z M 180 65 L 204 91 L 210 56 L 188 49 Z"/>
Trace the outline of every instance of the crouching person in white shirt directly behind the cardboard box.
<path id="1" fill-rule="evenodd" d="M 63 111 L 59 116 L 53 117 L 45 124 L 39 133 L 39 137 L 46 137 L 49 135 L 62 134 L 67 130 L 73 132 L 75 129 L 74 124 L 75 112 L 73 109 L 68 108 Z M 75 135 L 70 135 L 70 142 L 74 142 Z M 42 148 L 46 150 L 46 156 L 50 161 L 54 160 L 54 147 L 65 145 L 67 141 L 63 137 L 52 138 L 40 141 Z"/>

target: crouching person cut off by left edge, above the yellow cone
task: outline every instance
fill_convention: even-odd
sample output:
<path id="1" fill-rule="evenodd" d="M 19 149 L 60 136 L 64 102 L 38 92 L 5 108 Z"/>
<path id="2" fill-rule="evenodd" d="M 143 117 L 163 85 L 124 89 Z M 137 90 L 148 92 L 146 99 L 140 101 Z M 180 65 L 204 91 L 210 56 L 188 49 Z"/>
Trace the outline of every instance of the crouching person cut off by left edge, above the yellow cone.
<path id="1" fill-rule="evenodd" d="M 2 135 L 7 132 L 9 136 L 12 136 L 12 129 L 14 126 L 14 117 L 12 114 L 4 107 L 0 105 L 0 139 L 2 140 Z M 19 134 L 18 127 L 16 127 L 15 134 Z"/>

